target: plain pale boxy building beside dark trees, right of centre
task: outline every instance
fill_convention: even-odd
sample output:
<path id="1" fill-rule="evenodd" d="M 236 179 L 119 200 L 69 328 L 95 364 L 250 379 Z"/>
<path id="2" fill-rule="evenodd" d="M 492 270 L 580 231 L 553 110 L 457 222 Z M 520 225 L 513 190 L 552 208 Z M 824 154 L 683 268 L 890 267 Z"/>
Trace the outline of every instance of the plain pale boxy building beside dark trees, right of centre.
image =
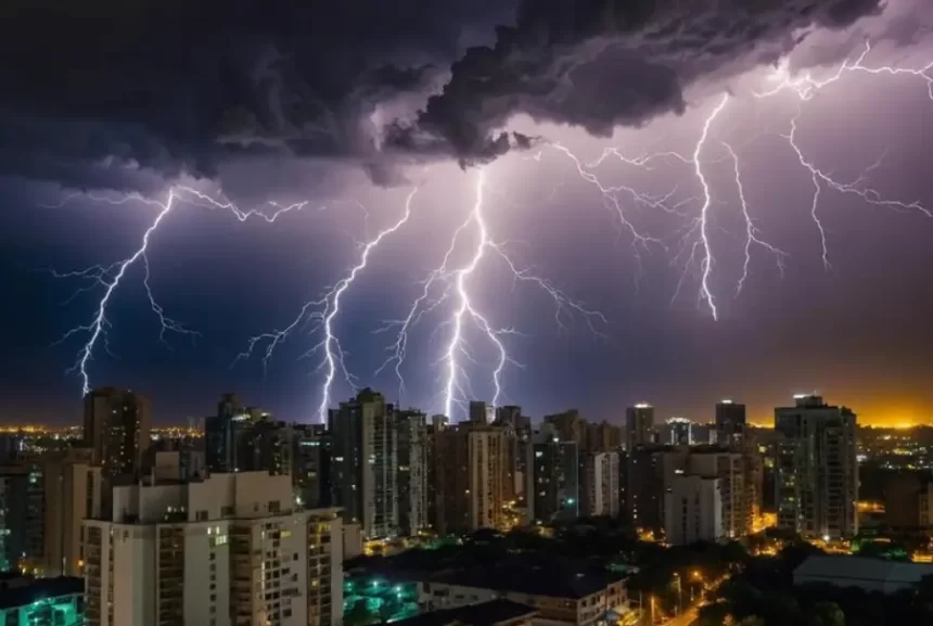
<path id="1" fill-rule="evenodd" d="M 678 474 L 664 494 L 664 535 L 668 544 L 686 546 L 725 536 L 719 478 Z"/>

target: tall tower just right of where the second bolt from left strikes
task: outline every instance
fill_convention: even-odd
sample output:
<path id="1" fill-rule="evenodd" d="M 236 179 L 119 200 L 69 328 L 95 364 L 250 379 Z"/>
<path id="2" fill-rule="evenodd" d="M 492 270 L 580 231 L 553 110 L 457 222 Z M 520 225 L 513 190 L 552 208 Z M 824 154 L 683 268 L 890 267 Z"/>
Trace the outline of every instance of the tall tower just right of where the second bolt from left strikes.
<path id="1" fill-rule="evenodd" d="M 398 439 L 395 407 L 362 389 L 330 413 L 332 502 L 369 539 L 398 534 Z"/>

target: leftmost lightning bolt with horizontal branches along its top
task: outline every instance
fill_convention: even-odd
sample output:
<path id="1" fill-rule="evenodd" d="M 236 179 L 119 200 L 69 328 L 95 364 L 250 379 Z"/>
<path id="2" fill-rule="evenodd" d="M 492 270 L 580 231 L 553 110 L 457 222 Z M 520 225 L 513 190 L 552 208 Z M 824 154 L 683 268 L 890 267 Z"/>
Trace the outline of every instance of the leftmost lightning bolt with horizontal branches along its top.
<path id="1" fill-rule="evenodd" d="M 281 215 L 286 213 L 291 213 L 293 210 L 301 210 L 308 203 L 299 202 L 291 205 L 280 205 L 273 202 L 268 203 L 276 210 L 271 214 L 261 212 L 259 209 L 251 209 L 251 210 L 242 210 L 237 205 L 229 201 L 218 201 L 209 195 L 197 191 L 196 189 L 192 189 L 190 187 L 177 186 L 172 187 L 168 191 L 168 196 L 165 202 L 159 202 L 157 200 L 142 196 L 138 193 L 131 193 L 127 195 L 123 195 L 119 197 L 112 196 L 100 196 L 94 194 L 86 194 L 86 193 L 73 193 L 66 195 L 60 203 L 54 205 L 43 205 L 47 208 L 57 208 L 64 206 L 67 202 L 74 200 L 75 197 L 88 197 L 95 202 L 103 202 L 113 205 L 124 205 L 130 202 L 141 202 L 149 206 L 155 206 L 158 208 L 158 212 L 155 216 L 155 219 L 152 223 L 146 228 L 145 232 L 143 232 L 142 241 L 140 246 L 133 252 L 132 255 L 127 258 L 114 263 L 107 267 L 104 266 L 92 266 L 88 269 L 74 271 L 74 272 L 52 272 L 52 276 L 56 278 L 81 278 L 91 280 L 91 284 L 89 286 L 85 286 L 79 289 L 75 295 L 79 293 L 84 293 L 94 289 L 95 286 L 103 288 L 103 295 L 100 301 L 98 301 L 97 312 L 93 315 L 91 321 L 87 324 L 81 324 L 72 328 L 68 330 L 62 337 L 56 342 L 60 344 L 75 335 L 79 335 L 86 333 L 88 338 L 85 342 L 84 346 L 78 350 L 77 360 L 75 365 L 69 368 L 68 371 L 77 372 L 81 379 L 81 391 L 84 395 L 87 395 L 90 392 L 90 375 L 88 374 L 88 366 L 93 358 L 94 348 L 98 343 L 103 342 L 104 347 L 107 348 L 107 328 L 110 328 L 110 321 L 107 320 L 107 306 L 113 298 L 114 293 L 119 289 L 120 283 L 126 277 L 127 271 L 136 265 L 138 261 L 142 260 L 144 267 L 144 276 L 143 276 L 143 286 L 145 288 L 145 293 L 149 298 L 150 308 L 158 318 L 161 324 L 159 331 L 159 340 L 165 341 L 165 334 L 167 332 L 174 332 L 179 334 L 187 334 L 191 336 L 196 336 L 199 333 L 189 330 L 183 324 L 178 321 L 171 319 L 165 314 L 165 309 L 155 299 L 155 296 L 152 293 L 152 286 L 150 285 L 150 266 L 149 266 L 149 257 L 146 255 L 146 250 L 149 247 L 149 242 L 152 239 L 153 233 L 155 233 L 158 226 L 165 219 L 165 217 L 175 208 L 178 202 L 187 202 L 189 204 L 193 204 L 195 206 L 201 206 L 205 208 L 215 208 L 215 209 L 225 209 L 232 213 L 237 219 L 240 221 L 245 221 L 251 217 L 260 217 L 268 222 L 273 222 Z M 73 296 L 74 297 L 74 296 Z"/>

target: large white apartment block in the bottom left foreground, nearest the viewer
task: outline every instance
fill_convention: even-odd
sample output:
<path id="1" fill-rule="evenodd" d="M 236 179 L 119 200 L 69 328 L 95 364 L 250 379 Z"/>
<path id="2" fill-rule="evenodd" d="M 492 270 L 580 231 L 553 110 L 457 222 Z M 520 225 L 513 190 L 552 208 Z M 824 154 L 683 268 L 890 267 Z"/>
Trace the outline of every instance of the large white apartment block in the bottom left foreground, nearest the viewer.
<path id="1" fill-rule="evenodd" d="M 85 534 L 88 626 L 338 626 L 341 521 L 290 476 L 114 486 Z"/>

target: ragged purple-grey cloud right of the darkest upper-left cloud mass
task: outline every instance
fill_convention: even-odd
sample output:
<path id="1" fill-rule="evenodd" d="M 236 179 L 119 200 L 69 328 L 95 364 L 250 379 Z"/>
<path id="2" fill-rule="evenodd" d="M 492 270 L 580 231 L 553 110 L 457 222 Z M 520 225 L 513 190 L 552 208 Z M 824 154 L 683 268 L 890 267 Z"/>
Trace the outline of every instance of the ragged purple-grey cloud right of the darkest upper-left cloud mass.
<path id="1" fill-rule="evenodd" d="M 394 140 L 439 144 L 463 161 L 508 149 L 497 132 L 517 113 L 609 136 L 680 113 L 683 89 L 717 73 L 775 61 L 803 29 L 841 28 L 880 0 L 526 0 L 515 27 L 498 29 L 452 67 L 442 94 Z"/>

